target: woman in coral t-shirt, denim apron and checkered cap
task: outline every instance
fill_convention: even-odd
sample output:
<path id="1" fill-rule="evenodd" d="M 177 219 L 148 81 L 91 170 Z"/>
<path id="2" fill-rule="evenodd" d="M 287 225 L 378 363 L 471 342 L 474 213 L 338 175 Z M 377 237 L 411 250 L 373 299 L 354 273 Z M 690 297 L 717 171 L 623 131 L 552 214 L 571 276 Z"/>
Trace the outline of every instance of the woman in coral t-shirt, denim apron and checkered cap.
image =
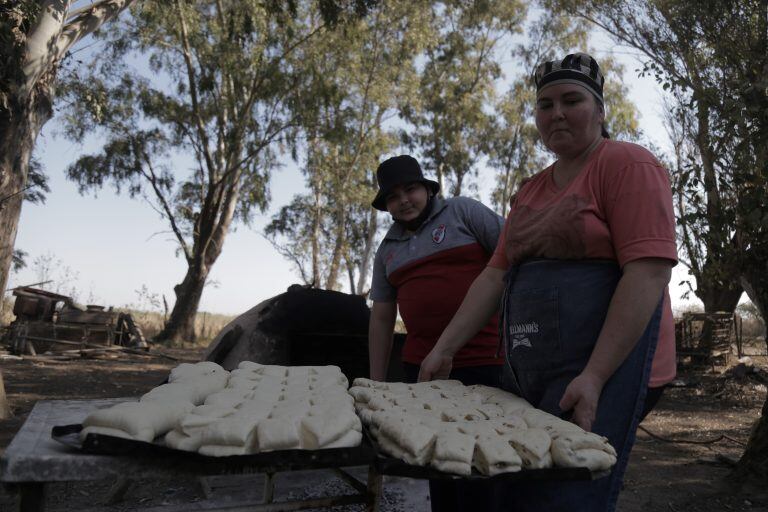
<path id="1" fill-rule="evenodd" d="M 547 62 L 535 78 L 536 127 L 557 161 L 518 191 L 494 256 L 423 361 L 420 380 L 443 377 L 503 298 L 505 387 L 606 436 L 618 453 L 607 478 L 510 486 L 509 509 L 610 511 L 657 340 L 667 354 L 656 384 L 675 372 L 672 192 L 647 150 L 607 139 L 604 79 L 592 57 Z"/>

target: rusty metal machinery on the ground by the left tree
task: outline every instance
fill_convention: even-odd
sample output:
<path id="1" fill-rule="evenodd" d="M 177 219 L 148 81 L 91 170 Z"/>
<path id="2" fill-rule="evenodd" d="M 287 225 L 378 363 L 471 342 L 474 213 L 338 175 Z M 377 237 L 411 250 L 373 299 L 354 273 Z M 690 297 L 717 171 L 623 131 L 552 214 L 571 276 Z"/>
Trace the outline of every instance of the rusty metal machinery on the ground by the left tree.
<path id="1" fill-rule="evenodd" d="M 16 316 L 4 344 L 15 354 L 104 349 L 147 349 L 141 328 L 129 313 L 104 306 L 80 306 L 71 297 L 37 288 L 13 291 Z"/>

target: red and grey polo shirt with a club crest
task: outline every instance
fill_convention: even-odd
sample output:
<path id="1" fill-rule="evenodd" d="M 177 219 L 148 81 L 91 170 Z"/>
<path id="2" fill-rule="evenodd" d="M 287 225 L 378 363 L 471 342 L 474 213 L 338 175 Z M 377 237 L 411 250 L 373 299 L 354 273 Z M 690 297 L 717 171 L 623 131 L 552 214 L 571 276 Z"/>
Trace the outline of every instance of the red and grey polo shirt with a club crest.
<path id="1" fill-rule="evenodd" d="M 496 248 L 504 219 L 466 197 L 436 198 L 415 233 L 394 224 L 373 264 L 371 300 L 397 302 L 408 335 L 402 359 L 420 364 L 453 318 Z M 496 357 L 498 319 L 469 341 L 454 367 L 502 364 Z"/>

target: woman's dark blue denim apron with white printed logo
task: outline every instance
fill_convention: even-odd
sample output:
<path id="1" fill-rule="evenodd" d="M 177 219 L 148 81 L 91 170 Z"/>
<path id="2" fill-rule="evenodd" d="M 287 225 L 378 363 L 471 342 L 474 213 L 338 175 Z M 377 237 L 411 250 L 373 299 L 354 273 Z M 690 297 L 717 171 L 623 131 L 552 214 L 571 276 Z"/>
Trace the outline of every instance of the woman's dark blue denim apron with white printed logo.
<path id="1" fill-rule="evenodd" d="M 568 419 L 558 403 L 587 364 L 621 278 L 614 261 L 534 260 L 507 274 L 502 304 L 504 387 L 535 407 Z M 606 382 L 592 431 L 606 436 L 618 461 L 609 477 L 541 482 L 504 490 L 510 511 L 613 511 L 645 400 L 661 301 L 634 349 Z"/>

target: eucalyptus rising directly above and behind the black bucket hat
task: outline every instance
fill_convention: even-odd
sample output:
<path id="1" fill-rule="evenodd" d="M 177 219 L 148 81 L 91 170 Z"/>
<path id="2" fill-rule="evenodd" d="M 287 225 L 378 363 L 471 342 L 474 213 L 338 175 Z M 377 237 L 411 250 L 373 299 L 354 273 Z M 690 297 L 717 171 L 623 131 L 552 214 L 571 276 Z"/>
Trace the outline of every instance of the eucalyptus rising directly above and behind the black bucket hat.
<path id="1" fill-rule="evenodd" d="M 403 109 L 404 142 L 435 173 L 444 194 L 459 195 L 477 172 L 509 36 L 520 32 L 528 3 L 447 0 L 432 6 L 436 34 L 423 56 L 418 101 Z"/>

